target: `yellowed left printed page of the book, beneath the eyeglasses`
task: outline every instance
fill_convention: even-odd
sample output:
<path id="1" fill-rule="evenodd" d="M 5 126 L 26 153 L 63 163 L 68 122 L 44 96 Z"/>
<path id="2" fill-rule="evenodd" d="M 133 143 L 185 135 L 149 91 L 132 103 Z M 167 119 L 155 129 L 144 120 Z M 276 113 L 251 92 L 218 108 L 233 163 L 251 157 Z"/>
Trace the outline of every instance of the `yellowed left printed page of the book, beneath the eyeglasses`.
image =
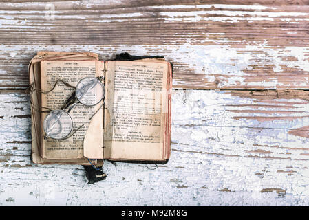
<path id="1" fill-rule="evenodd" d="M 58 79 L 76 86 L 82 78 L 97 75 L 97 62 L 102 61 L 41 61 L 41 89 L 43 91 L 52 89 Z M 59 109 L 73 92 L 74 88 L 67 87 L 63 83 L 58 83 L 53 91 L 48 94 L 42 94 L 42 107 L 47 107 L 52 110 Z M 85 133 L 88 129 L 90 118 L 98 110 L 98 107 L 100 107 L 100 104 L 94 107 L 77 104 L 70 111 L 70 116 L 73 120 L 73 130 L 75 131 L 82 124 L 83 127 L 65 140 L 45 139 L 42 137 L 42 157 L 47 159 L 83 158 L 83 140 Z M 43 120 L 46 115 L 47 113 L 42 113 Z M 41 123 L 42 131 L 43 120 Z M 102 114 L 100 120 L 103 121 Z M 42 135 L 45 135 L 45 133 L 43 132 Z"/>

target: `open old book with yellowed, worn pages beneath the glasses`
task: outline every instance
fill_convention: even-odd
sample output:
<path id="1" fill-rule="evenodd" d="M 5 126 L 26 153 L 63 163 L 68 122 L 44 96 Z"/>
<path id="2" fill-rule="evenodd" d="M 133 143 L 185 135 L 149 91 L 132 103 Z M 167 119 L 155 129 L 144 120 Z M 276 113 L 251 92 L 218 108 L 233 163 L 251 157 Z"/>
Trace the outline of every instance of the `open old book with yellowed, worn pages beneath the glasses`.
<path id="1" fill-rule="evenodd" d="M 31 95 L 34 163 L 169 159 L 171 63 L 162 58 L 98 61 L 93 53 L 39 52 L 29 73 L 35 88 Z M 72 108 L 69 114 L 76 132 L 70 137 L 48 138 L 43 129 L 48 111 L 43 110 L 60 109 L 85 77 L 102 79 L 105 98 L 94 106 Z M 65 83 L 56 83 L 59 79 Z"/>

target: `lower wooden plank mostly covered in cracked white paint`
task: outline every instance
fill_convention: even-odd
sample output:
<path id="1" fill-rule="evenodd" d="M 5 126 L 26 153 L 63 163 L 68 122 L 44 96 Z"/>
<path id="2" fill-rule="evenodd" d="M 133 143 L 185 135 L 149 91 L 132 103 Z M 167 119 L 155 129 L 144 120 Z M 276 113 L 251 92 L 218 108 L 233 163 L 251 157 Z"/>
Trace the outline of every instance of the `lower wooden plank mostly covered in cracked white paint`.
<path id="1" fill-rule="evenodd" d="M 308 137 L 292 133 L 307 132 L 308 93 L 174 90 L 169 163 L 106 162 L 87 185 L 82 166 L 32 164 L 28 96 L 3 92 L 0 204 L 308 205 Z"/>

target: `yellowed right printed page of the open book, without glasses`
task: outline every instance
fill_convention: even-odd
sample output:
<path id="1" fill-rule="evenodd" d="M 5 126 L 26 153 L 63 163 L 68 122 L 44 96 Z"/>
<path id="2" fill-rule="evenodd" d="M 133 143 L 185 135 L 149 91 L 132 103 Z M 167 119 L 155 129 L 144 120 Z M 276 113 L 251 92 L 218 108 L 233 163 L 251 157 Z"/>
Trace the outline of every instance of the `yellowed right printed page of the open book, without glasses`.
<path id="1" fill-rule="evenodd" d="M 167 117 L 166 61 L 108 61 L 105 158 L 161 160 Z"/>

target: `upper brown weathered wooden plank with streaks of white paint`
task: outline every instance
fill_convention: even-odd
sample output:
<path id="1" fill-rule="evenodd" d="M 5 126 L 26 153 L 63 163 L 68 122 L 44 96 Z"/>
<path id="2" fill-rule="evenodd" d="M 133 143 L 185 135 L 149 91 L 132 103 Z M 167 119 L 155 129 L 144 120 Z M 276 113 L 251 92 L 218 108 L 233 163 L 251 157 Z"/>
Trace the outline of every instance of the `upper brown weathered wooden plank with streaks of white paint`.
<path id="1" fill-rule="evenodd" d="M 25 88 L 30 58 L 56 50 L 161 54 L 180 88 L 307 89 L 308 20 L 308 1 L 0 3 L 0 88 Z"/>

